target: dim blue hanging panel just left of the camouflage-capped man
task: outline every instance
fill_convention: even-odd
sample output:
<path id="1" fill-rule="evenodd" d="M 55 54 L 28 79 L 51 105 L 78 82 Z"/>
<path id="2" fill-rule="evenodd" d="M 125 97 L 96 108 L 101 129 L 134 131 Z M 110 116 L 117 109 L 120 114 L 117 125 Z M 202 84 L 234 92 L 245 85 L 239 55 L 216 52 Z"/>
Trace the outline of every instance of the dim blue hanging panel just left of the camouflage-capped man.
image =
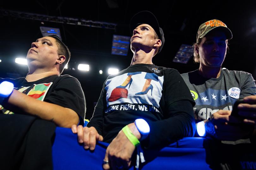
<path id="1" fill-rule="evenodd" d="M 192 56 L 192 45 L 181 44 L 179 51 L 176 53 L 173 59 L 173 62 L 186 64 Z"/>

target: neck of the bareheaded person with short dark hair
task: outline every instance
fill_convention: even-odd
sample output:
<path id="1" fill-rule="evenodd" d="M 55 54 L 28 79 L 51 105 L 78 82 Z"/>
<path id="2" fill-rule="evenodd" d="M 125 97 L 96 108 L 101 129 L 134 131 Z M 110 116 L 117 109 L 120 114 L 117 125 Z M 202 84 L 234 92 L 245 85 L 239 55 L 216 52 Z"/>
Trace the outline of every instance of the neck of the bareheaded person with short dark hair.
<path id="1" fill-rule="evenodd" d="M 60 73 L 55 70 L 55 69 L 52 69 L 52 70 L 43 70 L 43 69 L 37 69 L 37 70 L 29 70 L 29 72 L 27 73 L 27 76 L 26 76 L 26 80 L 28 82 L 34 82 L 34 81 L 37 81 L 37 80 L 40 80 L 42 78 L 45 78 L 45 77 L 48 77 L 48 76 L 52 76 L 52 75 L 60 75 Z"/>

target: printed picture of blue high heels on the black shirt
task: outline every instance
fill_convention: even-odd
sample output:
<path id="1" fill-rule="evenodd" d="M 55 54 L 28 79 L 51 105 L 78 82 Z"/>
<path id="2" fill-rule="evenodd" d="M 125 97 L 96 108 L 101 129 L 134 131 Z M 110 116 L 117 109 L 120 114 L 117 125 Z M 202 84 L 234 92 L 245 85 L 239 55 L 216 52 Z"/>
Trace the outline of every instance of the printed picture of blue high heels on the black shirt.
<path id="1" fill-rule="evenodd" d="M 132 103 L 159 107 L 162 97 L 163 76 L 155 73 L 132 72 L 115 76 L 106 81 L 107 107 Z"/>

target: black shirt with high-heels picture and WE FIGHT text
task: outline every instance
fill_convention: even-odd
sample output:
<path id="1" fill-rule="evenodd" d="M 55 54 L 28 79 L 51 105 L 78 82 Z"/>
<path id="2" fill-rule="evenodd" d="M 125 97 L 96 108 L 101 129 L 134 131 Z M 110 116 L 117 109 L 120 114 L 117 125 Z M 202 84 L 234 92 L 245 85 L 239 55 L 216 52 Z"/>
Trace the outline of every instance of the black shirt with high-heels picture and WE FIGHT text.
<path id="1" fill-rule="evenodd" d="M 87 126 L 111 142 L 125 125 L 143 118 L 150 126 L 146 147 L 162 146 L 193 135 L 194 104 L 177 70 L 136 64 L 107 78 Z"/>

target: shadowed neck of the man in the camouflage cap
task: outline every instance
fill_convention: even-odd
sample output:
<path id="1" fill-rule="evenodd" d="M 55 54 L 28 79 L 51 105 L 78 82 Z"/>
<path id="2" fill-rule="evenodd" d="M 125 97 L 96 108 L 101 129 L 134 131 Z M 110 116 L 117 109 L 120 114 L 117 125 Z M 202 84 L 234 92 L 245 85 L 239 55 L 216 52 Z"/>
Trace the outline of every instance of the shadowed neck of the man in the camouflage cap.
<path id="1" fill-rule="evenodd" d="M 218 78 L 221 74 L 220 67 L 208 67 L 200 64 L 198 73 L 205 78 Z"/>

